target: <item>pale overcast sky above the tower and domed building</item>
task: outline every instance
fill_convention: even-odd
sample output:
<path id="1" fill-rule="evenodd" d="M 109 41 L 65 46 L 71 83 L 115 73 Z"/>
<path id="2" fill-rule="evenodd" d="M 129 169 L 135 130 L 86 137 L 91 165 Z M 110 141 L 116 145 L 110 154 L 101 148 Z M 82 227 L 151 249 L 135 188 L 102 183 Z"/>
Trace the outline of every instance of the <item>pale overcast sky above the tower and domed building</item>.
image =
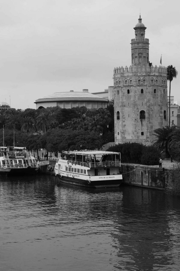
<path id="1" fill-rule="evenodd" d="M 114 67 L 131 65 L 141 12 L 153 66 L 173 65 L 180 101 L 178 0 L 0 0 L 0 104 L 36 108 L 54 92 L 103 92 Z M 169 91 L 169 82 L 168 82 Z"/>

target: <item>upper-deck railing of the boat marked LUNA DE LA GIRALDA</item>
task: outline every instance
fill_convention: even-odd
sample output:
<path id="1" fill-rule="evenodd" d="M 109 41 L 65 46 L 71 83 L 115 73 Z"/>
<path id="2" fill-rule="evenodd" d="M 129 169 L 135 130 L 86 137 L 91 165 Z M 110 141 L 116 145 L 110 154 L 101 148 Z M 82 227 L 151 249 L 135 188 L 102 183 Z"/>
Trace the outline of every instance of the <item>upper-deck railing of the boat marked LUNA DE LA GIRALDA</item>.
<path id="1" fill-rule="evenodd" d="M 59 158 L 56 158 L 56 163 L 58 163 L 59 161 Z M 90 162 L 90 161 L 87 161 L 87 162 L 82 162 L 82 161 L 73 161 L 73 160 L 66 160 L 67 161 L 67 164 L 68 165 L 80 165 L 80 166 L 83 166 L 83 167 L 121 167 L 121 161 L 119 160 L 116 160 L 116 161 L 113 161 L 113 160 L 106 160 L 104 162 Z"/>

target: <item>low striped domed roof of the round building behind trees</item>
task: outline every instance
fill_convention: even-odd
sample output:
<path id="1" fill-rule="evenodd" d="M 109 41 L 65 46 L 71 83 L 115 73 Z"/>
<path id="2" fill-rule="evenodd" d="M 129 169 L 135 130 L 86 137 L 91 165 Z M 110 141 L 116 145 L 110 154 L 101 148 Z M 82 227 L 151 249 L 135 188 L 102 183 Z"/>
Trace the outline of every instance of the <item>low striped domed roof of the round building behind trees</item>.
<path id="1" fill-rule="evenodd" d="M 39 102 L 45 102 L 45 101 L 84 101 L 84 100 L 89 100 L 89 101 L 104 101 L 108 102 L 107 99 L 99 97 L 97 95 L 94 95 L 92 93 L 88 92 L 55 92 L 51 95 L 45 96 L 44 98 L 40 98 L 35 101 L 36 103 Z"/>

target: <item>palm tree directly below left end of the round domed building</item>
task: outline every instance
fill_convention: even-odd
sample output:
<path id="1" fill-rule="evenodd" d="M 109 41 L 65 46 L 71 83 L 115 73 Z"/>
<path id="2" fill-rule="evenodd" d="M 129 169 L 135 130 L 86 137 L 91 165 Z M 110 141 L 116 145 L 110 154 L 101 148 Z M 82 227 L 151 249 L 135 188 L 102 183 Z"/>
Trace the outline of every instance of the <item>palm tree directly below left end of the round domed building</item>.
<path id="1" fill-rule="evenodd" d="M 37 117 L 37 129 L 42 130 L 43 132 L 47 132 L 47 130 L 50 127 L 52 121 L 51 113 L 49 111 L 47 112 L 42 112 L 39 114 Z"/>

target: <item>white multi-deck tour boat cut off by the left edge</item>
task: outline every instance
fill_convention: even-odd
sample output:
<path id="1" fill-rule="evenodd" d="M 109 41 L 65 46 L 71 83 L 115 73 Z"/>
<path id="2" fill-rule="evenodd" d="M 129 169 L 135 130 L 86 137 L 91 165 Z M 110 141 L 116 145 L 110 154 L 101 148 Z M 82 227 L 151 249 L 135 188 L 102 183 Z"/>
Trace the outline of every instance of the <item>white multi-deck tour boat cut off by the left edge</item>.
<path id="1" fill-rule="evenodd" d="M 35 157 L 24 147 L 0 147 L 0 175 L 24 175 L 39 169 Z"/>

